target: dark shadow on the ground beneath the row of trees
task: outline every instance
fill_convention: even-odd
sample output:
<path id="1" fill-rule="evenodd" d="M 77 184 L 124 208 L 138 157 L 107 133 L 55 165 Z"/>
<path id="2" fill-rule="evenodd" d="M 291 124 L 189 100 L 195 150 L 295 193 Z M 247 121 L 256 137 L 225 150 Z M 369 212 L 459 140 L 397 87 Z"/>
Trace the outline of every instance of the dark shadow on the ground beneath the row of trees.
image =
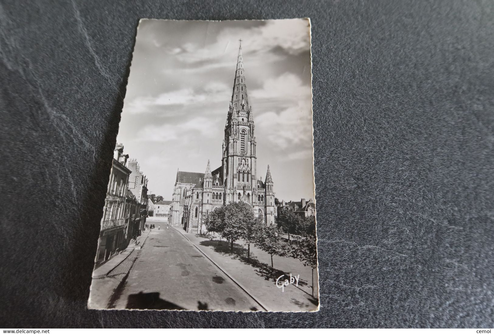
<path id="1" fill-rule="evenodd" d="M 250 259 L 247 258 L 247 249 L 244 248 L 244 245 L 234 243 L 233 245 L 233 253 L 230 252 L 230 243 L 226 241 L 219 240 L 204 240 L 200 242 L 201 246 L 212 247 L 216 253 L 229 255 L 232 259 L 237 259 L 251 267 L 256 268 L 256 272 L 259 276 L 263 277 L 266 281 L 276 282 L 278 277 L 281 275 L 288 276 L 290 273 L 287 273 L 283 270 L 277 268 L 271 268 L 270 265 L 261 262 L 257 259 L 256 256 L 250 252 Z M 275 264 L 276 266 L 276 264 Z M 298 286 L 307 286 L 307 281 L 303 279 L 299 279 Z M 305 291 L 304 291 L 305 292 Z"/>

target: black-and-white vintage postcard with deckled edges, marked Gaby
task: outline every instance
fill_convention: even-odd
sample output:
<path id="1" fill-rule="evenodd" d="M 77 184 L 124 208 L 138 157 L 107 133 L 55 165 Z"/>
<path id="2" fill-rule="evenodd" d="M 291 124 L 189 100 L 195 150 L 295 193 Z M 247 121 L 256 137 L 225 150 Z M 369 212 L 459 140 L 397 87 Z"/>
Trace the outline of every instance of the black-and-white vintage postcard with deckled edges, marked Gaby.
<path id="1" fill-rule="evenodd" d="M 89 308 L 318 310 L 311 78 L 309 19 L 140 21 Z"/>

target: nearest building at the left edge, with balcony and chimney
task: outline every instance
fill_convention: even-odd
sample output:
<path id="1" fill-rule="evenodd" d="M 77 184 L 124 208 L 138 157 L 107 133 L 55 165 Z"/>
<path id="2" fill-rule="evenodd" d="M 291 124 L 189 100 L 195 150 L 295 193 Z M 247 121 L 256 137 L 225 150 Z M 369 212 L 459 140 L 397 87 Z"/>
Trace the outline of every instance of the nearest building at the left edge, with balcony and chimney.
<path id="1" fill-rule="evenodd" d="M 128 155 L 123 154 L 124 146 L 117 144 L 114 150 L 110 182 L 108 183 L 96 264 L 101 264 L 124 249 L 127 244 L 126 192 L 130 170 L 125 167 Z"/>

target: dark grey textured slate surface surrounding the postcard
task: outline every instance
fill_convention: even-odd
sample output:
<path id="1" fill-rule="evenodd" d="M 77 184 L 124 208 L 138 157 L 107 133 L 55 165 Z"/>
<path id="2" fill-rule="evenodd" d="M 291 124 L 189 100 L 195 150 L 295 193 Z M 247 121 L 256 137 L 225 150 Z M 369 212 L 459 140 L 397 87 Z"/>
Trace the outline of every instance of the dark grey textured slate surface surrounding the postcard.
<path id="1" fill-rule="evenodd" d="M 139 18 L 312 19 L 321 310 L 86 309 Z M 493 1 L 0 1 L 0 327 L 493 327 Z"/>

